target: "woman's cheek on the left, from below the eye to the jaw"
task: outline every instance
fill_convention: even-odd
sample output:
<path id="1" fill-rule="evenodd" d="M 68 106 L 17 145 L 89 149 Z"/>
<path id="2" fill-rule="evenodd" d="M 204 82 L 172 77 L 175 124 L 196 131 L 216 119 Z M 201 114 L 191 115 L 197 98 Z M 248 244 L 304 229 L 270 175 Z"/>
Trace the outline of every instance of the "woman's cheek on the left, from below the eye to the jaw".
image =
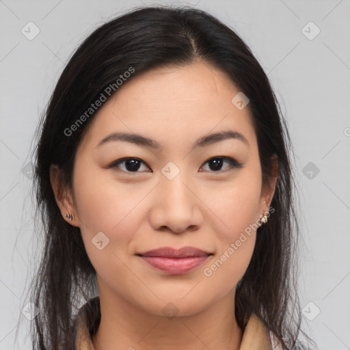
<path id="1" fill-rule="evenodd" d="M 107 284 L 123 285 L 130 271 L 123 263 L 137 231 L 137 203 L 144 195 L 128 191 L 100 170 L 77 165 L 74 178 L 76 208 L 87 256 Z M 102 243 L 100 243 L 102 242 Z"/>

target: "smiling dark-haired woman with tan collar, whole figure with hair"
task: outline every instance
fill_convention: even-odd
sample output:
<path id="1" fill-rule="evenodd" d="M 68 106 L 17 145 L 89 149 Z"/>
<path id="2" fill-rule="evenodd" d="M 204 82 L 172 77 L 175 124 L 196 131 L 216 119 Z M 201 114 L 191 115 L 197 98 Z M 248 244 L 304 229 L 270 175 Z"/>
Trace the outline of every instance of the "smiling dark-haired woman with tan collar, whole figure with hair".
<path id="1" fill-rule="evenodd" d="M 38 131 L 35 349 L 306 348 L 288 131 L 232 29 L 164 6 L 105 23 Z"/>

